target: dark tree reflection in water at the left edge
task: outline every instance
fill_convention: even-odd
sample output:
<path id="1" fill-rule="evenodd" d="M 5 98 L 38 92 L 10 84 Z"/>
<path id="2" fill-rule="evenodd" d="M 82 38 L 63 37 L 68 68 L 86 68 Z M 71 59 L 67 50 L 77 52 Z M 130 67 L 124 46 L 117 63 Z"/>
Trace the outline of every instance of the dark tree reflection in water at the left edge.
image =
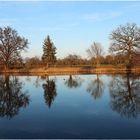
<path id="1" fill-rule="evenodd" d="M 17 77 L 0 76 L 0 116 L 12 118 L 29 104 L 29 96 L 22 92 L 22 86 Z"/>

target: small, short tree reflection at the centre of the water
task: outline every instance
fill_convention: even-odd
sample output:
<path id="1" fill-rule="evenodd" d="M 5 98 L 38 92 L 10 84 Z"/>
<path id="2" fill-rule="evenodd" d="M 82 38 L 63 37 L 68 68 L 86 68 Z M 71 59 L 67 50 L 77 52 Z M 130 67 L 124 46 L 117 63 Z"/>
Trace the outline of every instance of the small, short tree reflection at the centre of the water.
<path id="1" fill-rule="evenodd" d="M 70 75 L 69 78 L 65 81 L 65 85 L 69 88 L 77 88 L 81 86 L 81 84 L 82 80 L 77 76 L 72 77 L 72 75 Z"/>

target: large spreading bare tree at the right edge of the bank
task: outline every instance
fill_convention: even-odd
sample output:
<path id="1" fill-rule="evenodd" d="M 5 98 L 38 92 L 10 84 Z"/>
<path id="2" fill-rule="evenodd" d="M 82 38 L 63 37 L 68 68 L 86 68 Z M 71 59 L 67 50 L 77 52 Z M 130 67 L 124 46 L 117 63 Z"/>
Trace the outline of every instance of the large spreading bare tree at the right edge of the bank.
<path id="1" fill-rule="evenodd" d="M 132 66 L 133 55 L 140 52 L 140 28 L 135 23 L 120 25 L 112 31 L 110 52 L 126 55 L 126 66 Z"/>

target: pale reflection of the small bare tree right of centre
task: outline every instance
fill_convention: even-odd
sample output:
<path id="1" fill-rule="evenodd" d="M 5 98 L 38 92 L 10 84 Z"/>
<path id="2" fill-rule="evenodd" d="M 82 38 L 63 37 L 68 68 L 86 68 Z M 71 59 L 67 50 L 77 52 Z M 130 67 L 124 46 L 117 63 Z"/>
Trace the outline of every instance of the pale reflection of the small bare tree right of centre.
<path id="1" fill-rule="evenodd" d="M 99 78 L 99 75 L 97 74 L 96 79 L 91 81 L 88 85 L 87 91 L 94 97 L 94 99 L 97 99 L 102 96 L 103 86 L 104 84 Z"/>

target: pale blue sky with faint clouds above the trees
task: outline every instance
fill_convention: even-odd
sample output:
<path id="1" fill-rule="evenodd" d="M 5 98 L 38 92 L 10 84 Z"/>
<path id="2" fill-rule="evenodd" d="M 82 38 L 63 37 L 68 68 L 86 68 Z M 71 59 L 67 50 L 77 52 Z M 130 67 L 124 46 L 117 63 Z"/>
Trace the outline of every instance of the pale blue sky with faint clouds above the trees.
<path id="1" fill-rule="evenodd" d="M 120 24 L 140 26 L 140 1 L 0 1 L 0 26 L 11 26 L 29 40 L 24 57 L 41 56 L 50 35 L 57 57 L 78 54 L 100 42 L 107 52 L 109 35 Z"/>

